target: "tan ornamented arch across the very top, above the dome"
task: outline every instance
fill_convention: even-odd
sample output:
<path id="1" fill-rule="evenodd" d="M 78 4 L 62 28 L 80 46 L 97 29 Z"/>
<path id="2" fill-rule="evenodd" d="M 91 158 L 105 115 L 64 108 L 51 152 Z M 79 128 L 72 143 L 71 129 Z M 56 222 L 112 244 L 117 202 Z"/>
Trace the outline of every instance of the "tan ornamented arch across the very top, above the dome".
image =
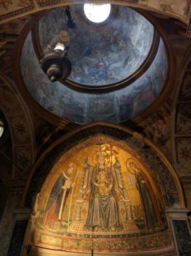
<path id="1" fill-rule="evenodd" d="M 90 1 L 91 3 L 97 3 L 97 1 Z M 176 3 L 172 3 L 176 2 Z M 89 1 L 88 1 L 89 3 Z M 112 0 L 110 3 L 122 4 L 130 7 L 137 7 L 144 10 L 149 10 L 157 13 L 165 13 L 171 17 L 177 18 L 188 24 L 189 22 L 189 8 L 190 1 L 142 1 L 142 0 Z M 46 10 L 59 6 L 66 6 L 70 4 L 84 4 L 82 0 L 29 0 L 21 1 L 16 0 L 14 4 L 11 1 L 3 1 L 0 3 L 0 24 L 6 22 L 6 20 L 13 20 L 18 17 L 25 16 L 29 13 L 36 13 L 40 10 Z"/>

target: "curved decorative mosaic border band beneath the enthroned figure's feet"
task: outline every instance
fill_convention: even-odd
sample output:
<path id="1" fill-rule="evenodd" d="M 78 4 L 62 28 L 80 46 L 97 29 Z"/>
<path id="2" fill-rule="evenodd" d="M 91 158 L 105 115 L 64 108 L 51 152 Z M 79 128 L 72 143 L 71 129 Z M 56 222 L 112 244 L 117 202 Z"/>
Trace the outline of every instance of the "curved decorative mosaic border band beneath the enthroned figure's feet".
<path id="1" fill-rule="evenodd" d="M 57 248 L 59 250 L 68 250 L 72 252 L 89 252 L 92 248 L 95 252 L 136 252 L 139 250 L 157 250 L 159 248 L 166 248 L 172 245 L 172 236 L 170 230 L 158 232 L 148 236 L 136 237 L 115 237 L 115 238 L 93 238 L 84 237 L 68 237 L 57 236 L 57 234 L 49 234 L 49 232 L 42 232 L 42 230 L 35 230 L 34 244 L 45 248 Z M 53 237 L 52 237 L 53 236 Z"/>

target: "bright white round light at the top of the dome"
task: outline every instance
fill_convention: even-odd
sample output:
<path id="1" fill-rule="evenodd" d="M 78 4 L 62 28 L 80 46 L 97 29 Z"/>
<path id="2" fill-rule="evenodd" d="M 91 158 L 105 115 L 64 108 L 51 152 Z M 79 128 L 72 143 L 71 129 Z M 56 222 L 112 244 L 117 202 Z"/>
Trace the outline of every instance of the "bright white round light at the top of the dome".
<path id="1" fill-rule="evenodd" d="M 84 4 L 84 13 L 92 22 L 103 22 L 110 12 L 111 4 Z"/>

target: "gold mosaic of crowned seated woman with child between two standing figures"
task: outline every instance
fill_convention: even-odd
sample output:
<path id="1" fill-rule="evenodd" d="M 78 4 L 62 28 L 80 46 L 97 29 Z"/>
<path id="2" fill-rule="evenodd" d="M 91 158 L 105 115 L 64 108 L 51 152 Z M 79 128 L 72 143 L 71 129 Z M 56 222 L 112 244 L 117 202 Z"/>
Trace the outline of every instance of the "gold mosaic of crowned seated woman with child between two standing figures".
<path id="1" fill-rule="evenodd" d="M 89 252 L 92 236 L 102 252 L 138 250 L 148 239 L 150 248 L 169 244 L 164 202 L 149 168 L 130 148 L 98 141 L 77 146 L 54 165 L 33 243 L 79 252 Z"/>

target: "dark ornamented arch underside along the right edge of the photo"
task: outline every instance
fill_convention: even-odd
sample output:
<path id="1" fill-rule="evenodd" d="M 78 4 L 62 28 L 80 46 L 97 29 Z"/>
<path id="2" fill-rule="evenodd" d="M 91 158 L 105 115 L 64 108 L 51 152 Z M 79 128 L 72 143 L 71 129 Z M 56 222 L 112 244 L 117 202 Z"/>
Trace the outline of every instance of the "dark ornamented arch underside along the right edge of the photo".
<path id="1" fill-rule="evenodd" d="M 174 106 L 172 113 L 172 145 L 174 148 L 174 166 L 182 179 L 188 179 L 190 175 L 190 150 L 191 139 L 191 93 L 190 93 L 190 70 L 191 70 L 191 47 L 189 47 L 180 68 L 179 79 L 174 90 Z"/>

